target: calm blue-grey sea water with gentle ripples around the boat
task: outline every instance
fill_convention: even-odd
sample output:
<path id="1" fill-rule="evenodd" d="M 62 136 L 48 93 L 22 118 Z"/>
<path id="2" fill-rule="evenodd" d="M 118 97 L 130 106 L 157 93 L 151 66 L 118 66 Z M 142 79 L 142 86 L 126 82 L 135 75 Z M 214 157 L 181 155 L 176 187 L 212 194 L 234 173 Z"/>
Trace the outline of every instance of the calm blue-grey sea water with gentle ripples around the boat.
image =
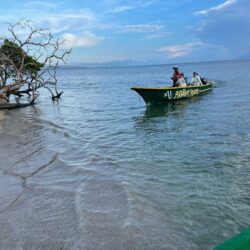
<path id="1" fill-rule="evenodd" d="M 0 249 L 206 250 L 250 226 L 249 61 L 183 64 L 212 92 L 145 107 L 171 65 L 59 70 L 1 113 Z"/>

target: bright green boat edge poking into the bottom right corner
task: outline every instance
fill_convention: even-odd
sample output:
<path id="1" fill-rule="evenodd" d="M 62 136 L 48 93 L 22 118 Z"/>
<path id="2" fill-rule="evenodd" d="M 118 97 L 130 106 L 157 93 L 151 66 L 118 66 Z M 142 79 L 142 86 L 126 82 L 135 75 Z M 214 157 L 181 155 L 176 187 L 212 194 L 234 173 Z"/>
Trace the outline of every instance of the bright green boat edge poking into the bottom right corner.
<path id="1" fill-rule="evenodd" d="M 213 250 L 249 250 L 250 249 L 250 228 L 224 241 Z"/>

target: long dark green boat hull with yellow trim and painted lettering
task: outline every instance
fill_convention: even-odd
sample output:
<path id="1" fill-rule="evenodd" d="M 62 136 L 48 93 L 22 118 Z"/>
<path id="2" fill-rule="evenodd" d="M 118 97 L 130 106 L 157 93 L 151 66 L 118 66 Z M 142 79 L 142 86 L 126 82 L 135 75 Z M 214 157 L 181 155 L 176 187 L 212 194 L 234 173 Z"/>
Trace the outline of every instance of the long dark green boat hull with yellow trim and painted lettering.
<path id="1" fill-rule="evenodd" d="M 208 82 L 201 86 L 187 87 L 132 87 L 147 105 L 168 103 L 180 99 L 190 98 L 208 92 L 213 88 L 213 83 Z"/>

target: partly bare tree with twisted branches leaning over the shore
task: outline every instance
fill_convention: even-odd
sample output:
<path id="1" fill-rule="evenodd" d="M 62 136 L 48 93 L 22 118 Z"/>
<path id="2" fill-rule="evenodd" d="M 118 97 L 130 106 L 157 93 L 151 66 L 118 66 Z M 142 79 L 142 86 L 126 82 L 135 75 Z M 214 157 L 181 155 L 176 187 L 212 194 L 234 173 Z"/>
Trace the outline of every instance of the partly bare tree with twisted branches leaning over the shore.
<path id="1" fill-rule="evenodd" d="M 65 63 L 70 50 L 47 29 L 30 21 L 9 24 L 8 37 L 0 38 L 0 89 L 8 98 L 27 94 L 35 102 L 37 90 L 46 88 L 52 100 L 63 92 L 57 90 L 57 68 Z"/>

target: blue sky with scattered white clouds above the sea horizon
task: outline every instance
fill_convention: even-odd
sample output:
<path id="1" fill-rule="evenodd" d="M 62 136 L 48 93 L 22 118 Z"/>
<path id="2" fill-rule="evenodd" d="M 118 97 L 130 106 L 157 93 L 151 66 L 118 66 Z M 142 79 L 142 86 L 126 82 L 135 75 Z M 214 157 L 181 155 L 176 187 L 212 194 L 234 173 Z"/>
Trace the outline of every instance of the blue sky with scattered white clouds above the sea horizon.
<path id="1" fill-rule="evenodd" d="M 249 11 L 249 0 L 1 0 L 0 24 L 49 28 L 71 63 L 161 64 L 249 59 Z"/>

